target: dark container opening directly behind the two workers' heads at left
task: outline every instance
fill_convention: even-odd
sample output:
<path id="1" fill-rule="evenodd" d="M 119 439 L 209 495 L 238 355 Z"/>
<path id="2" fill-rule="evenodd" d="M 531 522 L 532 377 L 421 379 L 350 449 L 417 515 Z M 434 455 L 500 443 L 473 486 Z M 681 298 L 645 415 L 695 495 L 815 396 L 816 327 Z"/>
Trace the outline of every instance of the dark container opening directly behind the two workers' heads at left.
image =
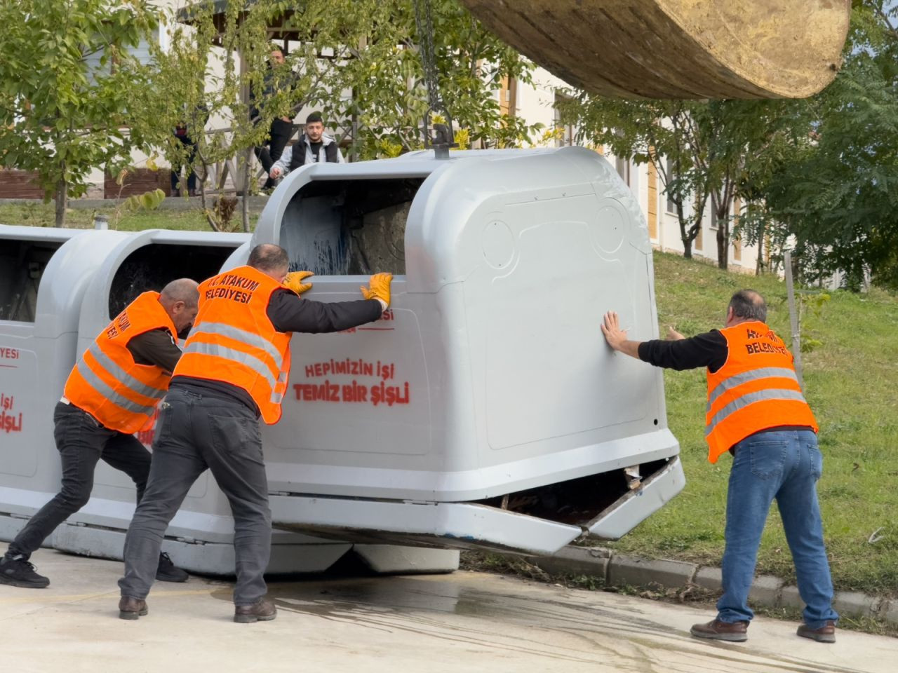
<path id="1" fill-rule="evenodd" d="M 159 292 L 176 278 L 202 283 L 216 275 L 234 247 L 151 243 L 136 249 L 119 266 L 110 288 L 110 317 L 119 315 L 137 295 Z"/>

